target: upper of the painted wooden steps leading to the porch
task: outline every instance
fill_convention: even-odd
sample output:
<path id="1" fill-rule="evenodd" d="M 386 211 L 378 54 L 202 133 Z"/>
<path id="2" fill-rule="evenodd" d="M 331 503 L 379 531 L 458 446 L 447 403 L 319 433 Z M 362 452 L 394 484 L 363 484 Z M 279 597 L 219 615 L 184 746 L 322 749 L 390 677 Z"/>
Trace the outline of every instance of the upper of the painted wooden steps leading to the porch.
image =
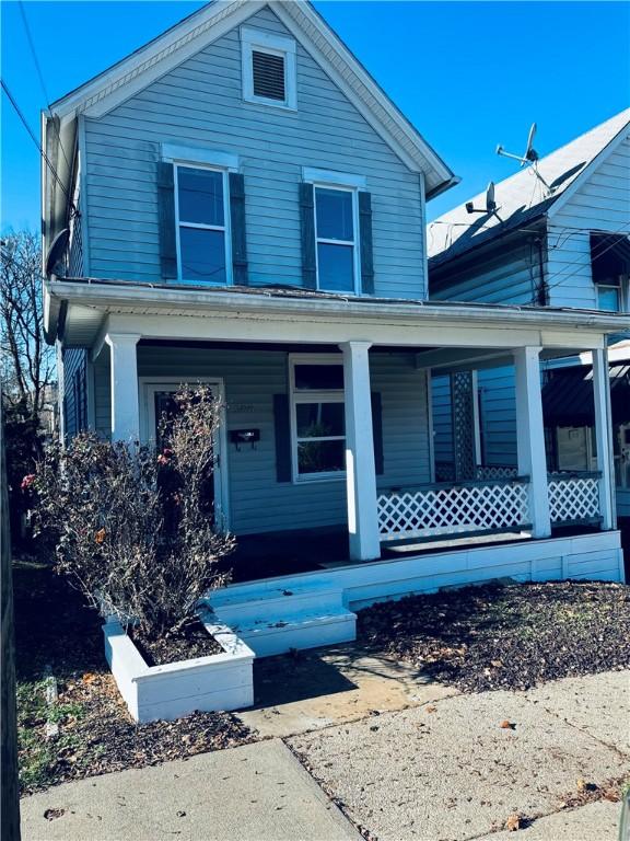
<path id="1" fill-rule="evenodd" d="M 207 603 L 217 619 L 230 627 L 254 625 L 258 622 L 285 622 L 303 614 L 336 612 L 343 606 L 341 589 L 303 588 L 254 591 L 231 595 L 230 590 L 212 594 Z"/>

